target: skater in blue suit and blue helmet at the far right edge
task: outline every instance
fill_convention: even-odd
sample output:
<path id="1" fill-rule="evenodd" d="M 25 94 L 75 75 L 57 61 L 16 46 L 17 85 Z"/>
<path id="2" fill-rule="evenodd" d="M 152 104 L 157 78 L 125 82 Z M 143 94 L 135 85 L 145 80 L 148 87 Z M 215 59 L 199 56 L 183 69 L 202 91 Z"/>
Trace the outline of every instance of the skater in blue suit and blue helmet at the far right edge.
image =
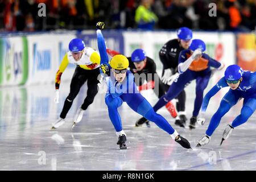
<path id="1" fill-rule="evenodd" d="M 210 124 L 205 133 L 206 135 L 199 140 L 199 143 L 197 144 L 198 147 L 209 143 L 210 136 L 212 136 L 214 130 L 218 127 L 221 118 L 231 109 L 232 106 L 236 105 L 237 101 L 241 98 L 243 98 L 241 114 L 238 115 L 231 124 L 226 126 L 221 144 L 230 136 L 234 128 L 245 123 L 256 109 L 256 73 L 243 71 L 238 65 L 230 65 L 226 68 L 225 76 L 222 77 L 220 81 L 218 81 L 218 83 L 205 95 L 203 105 L 201 107 L 201 115 L 204 115 L 210 98 L 213 97 L 218 90 L 226 86 L 229 86 L 230 89 L 222 98 L 220 107 L 218 107 L 218 110 L 213 114 L 212 119 L 210 119 Z M 205 119 L 201 117 L 197 122 L 203 125 Z"/>

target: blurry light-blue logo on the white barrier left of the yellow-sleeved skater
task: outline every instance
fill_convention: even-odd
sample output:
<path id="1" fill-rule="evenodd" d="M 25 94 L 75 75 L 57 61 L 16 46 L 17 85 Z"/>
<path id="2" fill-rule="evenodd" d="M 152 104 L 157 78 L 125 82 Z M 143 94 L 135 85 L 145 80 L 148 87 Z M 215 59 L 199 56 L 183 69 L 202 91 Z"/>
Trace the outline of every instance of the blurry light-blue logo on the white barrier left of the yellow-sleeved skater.
<path id="1" fill-rule="evenodd" d="M 33 69 L 32 75 L 36 71 L 51 69 L 51 49 L 38 50 L 38 44 L 33 45 Z"/>

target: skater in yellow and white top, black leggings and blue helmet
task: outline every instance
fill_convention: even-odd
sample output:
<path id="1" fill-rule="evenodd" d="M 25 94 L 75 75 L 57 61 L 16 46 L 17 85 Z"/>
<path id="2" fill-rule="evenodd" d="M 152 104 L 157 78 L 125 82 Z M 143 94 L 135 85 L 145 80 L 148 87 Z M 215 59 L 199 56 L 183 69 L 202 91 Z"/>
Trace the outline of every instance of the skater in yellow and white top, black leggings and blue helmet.
<path id="1" fill-rule="evenodd" d="M 87 81 L 88 86 L 87 96 L 84 100 L 84 103 L 77 110 L 73 121 L 74 125 L 75 123 L 81 121 L 82 114 L 87 109 L 87 107 L 92 104 L 94 97 L 98 93 L 97 84 L 99 81 L 97 80 L 97 77 L 100 73 L 100 55 L 94 49 L 85 47 L 85 44 L 81 39 L 73 39 L 69 43 L 69 52 L 65 54 L 60 64 L 60 68 L 56 73 L 55 102 L 59 102 L 60 77 L 69 63 L 75 64 L 77 67 L 72 77 L 70 92 L 64 102 L 63 109 L 60 113 L 60 118 L 57 119 L 55 123 L 53 123 L 52 129 L 57 129 L 64 124 L 64 119 L 72 106 L 73 100 L 76 98 L 81 86 L 85 81 Z"/>

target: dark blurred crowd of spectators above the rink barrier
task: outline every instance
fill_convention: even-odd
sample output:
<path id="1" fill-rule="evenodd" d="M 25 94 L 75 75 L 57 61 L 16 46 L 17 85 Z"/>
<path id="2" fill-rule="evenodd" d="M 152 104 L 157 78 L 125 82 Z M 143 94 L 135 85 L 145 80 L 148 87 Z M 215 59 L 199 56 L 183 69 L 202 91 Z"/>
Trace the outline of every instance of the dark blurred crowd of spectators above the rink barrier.
<path id="1" fill-rule="evenodd" d="M 251 31 L 256 0 L 0 0 L 1 32 L 88 30 L 98 21 L 106 28 Z"/>

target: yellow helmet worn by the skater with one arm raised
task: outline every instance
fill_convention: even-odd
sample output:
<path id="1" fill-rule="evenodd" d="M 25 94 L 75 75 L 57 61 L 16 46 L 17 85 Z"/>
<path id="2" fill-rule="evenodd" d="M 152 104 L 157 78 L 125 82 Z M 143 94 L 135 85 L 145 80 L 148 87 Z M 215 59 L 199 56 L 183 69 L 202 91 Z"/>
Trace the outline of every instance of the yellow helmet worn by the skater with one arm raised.
<path id="1" fill-rule="evenodd" d="M 115 55 L 114 57 L 112 57 L 112 59 L 110 60 L 110 67 L 112 67 L 113 69 L 126 69 L 129 67 L 129 61 L 127 59 L 127 57 L 123 56 L 123 55 Z"/>

